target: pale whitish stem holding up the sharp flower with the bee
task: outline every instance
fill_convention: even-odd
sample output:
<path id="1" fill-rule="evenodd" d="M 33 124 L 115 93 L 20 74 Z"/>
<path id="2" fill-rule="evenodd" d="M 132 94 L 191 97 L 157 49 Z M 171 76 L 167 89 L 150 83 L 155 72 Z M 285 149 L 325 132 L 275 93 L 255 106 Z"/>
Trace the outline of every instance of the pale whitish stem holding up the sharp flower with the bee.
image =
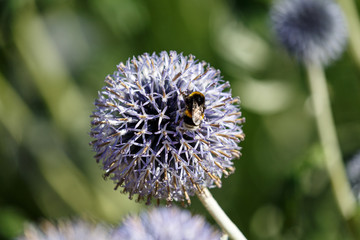
<path id="1" fill-rule="evenodd" d="M 207 188 L 204 188 L 202 193 L 197 193 L 197 195 L 201 203 L 209 211 L 217 224 L 229 235 L 230 238 L 234 240 L 246 240 L 245 236 L 225 214 Z"/>

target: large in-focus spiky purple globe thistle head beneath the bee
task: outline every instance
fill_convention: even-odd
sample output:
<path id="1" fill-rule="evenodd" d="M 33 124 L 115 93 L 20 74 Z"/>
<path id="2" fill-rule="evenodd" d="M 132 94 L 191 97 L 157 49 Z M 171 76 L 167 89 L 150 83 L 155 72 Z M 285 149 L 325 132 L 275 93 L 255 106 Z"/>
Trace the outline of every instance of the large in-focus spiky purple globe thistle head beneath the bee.
<path id="1" fill-rule="evenodd" d="M 95 158 L 115 189 L 148 203 L 190 203 L 203 187 L 220 187 L 222 175 L 234 171 L 244 137 L 239 99 L 220 72 L 174 51 L 145 53 L 117 69 L 105 79 L 91 122 Z M 189 103 L 194 92 L 205 97 L 203 104 Z M 184 117 L 191 122 L 192 114 L 199 124 L 189 129 Z"/>

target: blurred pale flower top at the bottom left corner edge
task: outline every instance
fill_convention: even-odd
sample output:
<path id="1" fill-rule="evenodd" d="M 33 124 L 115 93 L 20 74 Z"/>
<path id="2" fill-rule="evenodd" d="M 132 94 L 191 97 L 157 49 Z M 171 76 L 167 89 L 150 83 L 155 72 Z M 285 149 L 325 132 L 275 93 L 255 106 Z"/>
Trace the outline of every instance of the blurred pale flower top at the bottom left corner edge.
<path id="1" fill-rule="evenodd" d="M 108 240 L 111 232 L 103 225 L 94 225 L 83 220 L 64 220 L 57 224 L 48 221 L 40 227 L 28 225 L 18 240 Z"/>

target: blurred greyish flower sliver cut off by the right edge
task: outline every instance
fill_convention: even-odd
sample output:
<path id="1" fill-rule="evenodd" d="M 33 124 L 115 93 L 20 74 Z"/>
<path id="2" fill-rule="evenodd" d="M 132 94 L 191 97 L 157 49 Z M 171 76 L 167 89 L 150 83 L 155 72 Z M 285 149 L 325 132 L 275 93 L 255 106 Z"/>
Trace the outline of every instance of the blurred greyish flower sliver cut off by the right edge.
<path id="1" fill-rule="evenodd" d="M 358 152 L 346 163 L 346 173 L 350 181 L 352 191 L 356 199 L 360 201 L 360 152 Z"/>

